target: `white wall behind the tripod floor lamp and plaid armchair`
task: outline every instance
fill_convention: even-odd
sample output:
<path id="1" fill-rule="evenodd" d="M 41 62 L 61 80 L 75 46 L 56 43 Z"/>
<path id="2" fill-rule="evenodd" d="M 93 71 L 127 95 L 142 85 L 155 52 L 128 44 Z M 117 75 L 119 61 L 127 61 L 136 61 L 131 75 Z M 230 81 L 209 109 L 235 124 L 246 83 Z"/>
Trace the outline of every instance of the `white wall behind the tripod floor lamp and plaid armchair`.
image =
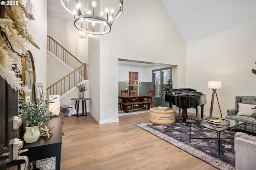
<path id="1" fill-rule="evenodd" d="M 256 95 L 256 21 L 187 44 L 187 85 L 205 93 L 204 113 L 210 113 L 208 81 L 222 81 L 217 90 L 222 115 L 235 107 L 235 96 Z M 219 116 L 216 101 L 213 114 Z"/>

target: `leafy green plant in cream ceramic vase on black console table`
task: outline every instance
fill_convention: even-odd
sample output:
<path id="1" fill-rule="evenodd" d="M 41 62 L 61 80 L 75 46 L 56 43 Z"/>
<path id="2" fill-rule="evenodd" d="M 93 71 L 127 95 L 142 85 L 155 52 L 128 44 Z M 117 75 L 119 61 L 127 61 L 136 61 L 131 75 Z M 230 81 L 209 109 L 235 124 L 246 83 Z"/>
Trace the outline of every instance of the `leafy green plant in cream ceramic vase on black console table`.
<path id="1" fill-rule="evenodd" d="M 49 103 L 54 103 L 52 100 L 44 100 L 43 94 L 40 99 L 30 102 L 19 95 L 19 117 L 22 123 L 26 124 L 26 132 L 24 133 L 24 140 L 27 143 L 36 142 L 40 136 L 39 126 L 51 120 L 52 112 L 48 110 Z"/>

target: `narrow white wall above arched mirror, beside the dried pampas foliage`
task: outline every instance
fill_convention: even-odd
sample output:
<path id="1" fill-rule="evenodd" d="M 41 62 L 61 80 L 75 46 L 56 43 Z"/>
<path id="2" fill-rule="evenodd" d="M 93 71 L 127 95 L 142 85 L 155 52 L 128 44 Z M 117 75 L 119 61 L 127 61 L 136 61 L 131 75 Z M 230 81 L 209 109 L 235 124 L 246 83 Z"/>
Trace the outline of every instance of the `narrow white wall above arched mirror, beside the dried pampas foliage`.
<path id="1" fill-rule="evenodd" d="M 26 6 L 26 1 L 22 0 Z M 28 33 L 40 47 L 37 49 L 31 44 L 28 48 L 34 57 L 36 82 L 43 83 L 43 90 L 46 93 L 46 36 L 47 36 L 47 2 L 46 0 L 31 0 L 35 8 L 35 20 L 27 21 Z"/>

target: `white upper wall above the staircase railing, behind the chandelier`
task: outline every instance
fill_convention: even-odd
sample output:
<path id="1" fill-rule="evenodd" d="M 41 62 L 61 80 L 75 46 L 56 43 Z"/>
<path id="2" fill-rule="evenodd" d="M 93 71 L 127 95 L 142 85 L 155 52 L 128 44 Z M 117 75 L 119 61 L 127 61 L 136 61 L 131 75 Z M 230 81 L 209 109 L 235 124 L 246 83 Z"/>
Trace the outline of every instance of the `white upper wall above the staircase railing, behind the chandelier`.
<path id="1" fill-rule="evenodd" d="M 47 34 L 82 63 L 88 63 L 88 35 L 86 38 L 79 38 L 78 29 L 73 22 L 47 17 Z"/>

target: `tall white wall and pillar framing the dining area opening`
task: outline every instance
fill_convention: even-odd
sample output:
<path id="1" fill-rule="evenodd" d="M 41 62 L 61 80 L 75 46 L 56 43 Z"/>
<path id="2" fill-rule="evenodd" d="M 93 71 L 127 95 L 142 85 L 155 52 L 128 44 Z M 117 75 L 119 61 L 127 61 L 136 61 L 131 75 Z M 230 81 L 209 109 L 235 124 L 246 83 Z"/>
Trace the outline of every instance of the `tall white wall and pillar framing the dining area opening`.
<path id="1" fill-rule="evenodd" d="M 99 81 L 92 82 L 89 75 L 90 89 L 100 94 L 89 93 L 100 105 L 100 115 L 95 113 L 97 105 L 92 105 L 92 115 L 100 124 L 118 120 L 118 58 L 179 65 L 177 84 L 186 85 L 186 44 L 161 0 L 124 1 L 123 15 L 109 34 L 100 36 L 100 57 L 92 63 L 94 57 L 89 53 L 89 69 L 100 72 L 89 74 Z"/>

